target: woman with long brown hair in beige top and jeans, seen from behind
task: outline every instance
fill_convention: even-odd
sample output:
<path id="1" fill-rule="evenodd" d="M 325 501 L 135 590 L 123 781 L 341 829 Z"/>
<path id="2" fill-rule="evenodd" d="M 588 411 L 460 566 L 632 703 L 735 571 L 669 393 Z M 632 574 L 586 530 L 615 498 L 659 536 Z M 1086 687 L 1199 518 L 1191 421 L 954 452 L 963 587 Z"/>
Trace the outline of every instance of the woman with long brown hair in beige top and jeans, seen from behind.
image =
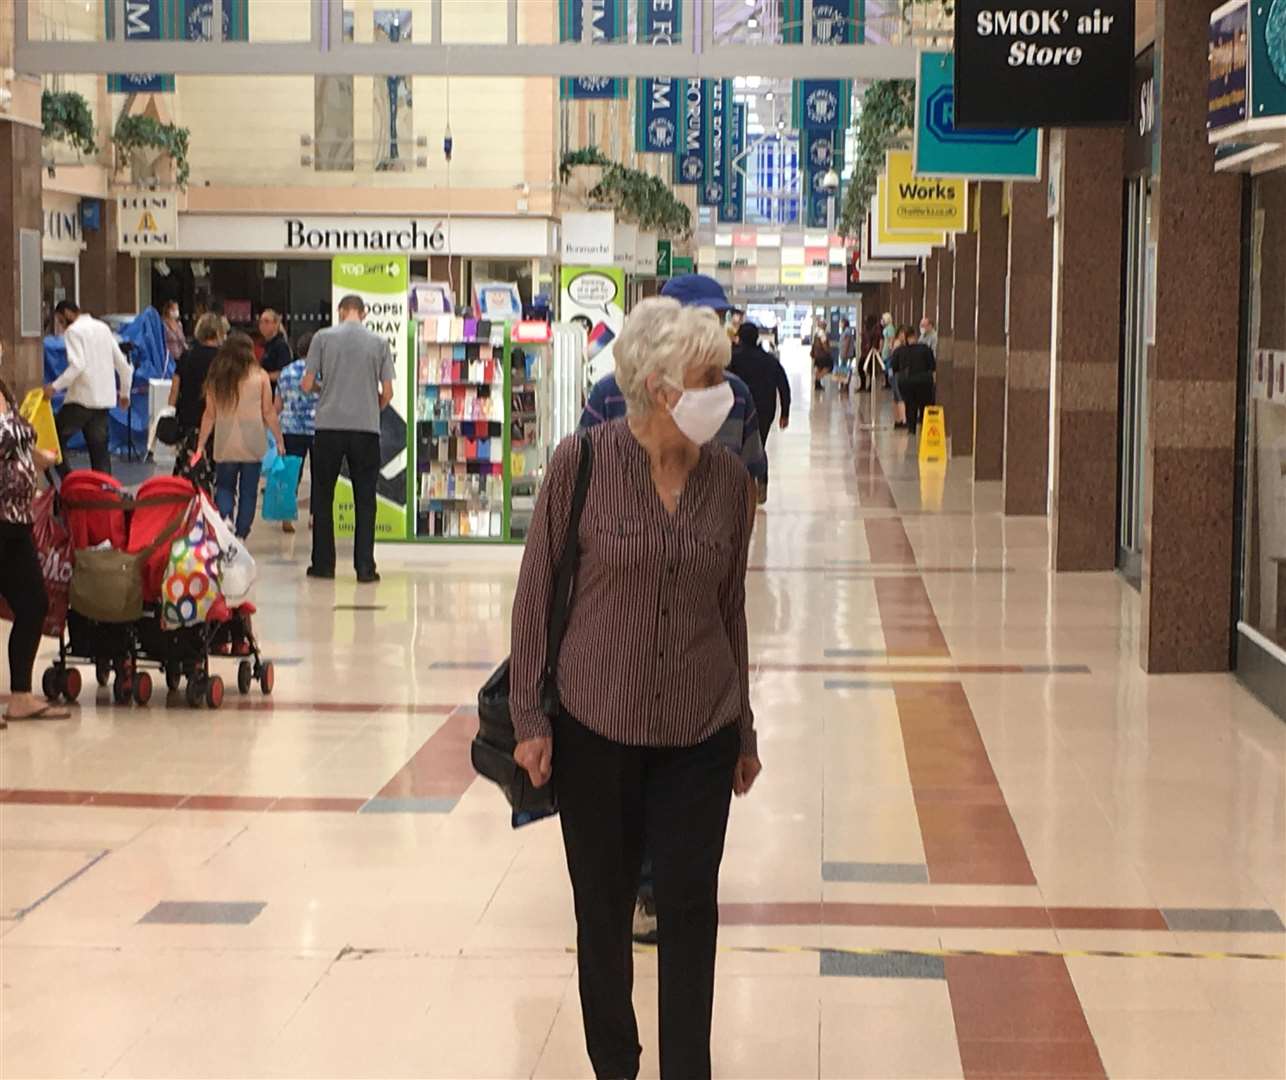
<path id="1" fill-rule="evenodd" d="M 255 345 L 246 334 L 231 334 L 210 365 L 206 414 L 197 438 L 198 456 L 211 432 L 215 436 L 215 505 L 244 540 L 255 523 L 269 432 L 276 451 L 285 453 L 273 408 L 273 384 L 255 359 Z"/>

